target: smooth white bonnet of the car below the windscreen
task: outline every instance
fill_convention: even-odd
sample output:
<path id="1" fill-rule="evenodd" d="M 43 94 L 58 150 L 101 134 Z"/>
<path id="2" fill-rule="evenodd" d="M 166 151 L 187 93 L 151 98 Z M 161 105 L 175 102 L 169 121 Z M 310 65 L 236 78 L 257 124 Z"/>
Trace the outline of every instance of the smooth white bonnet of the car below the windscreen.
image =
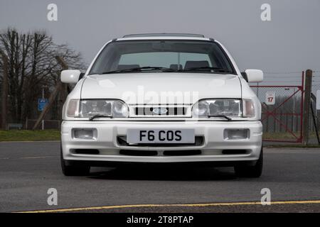
<path id="1" fill-rule="evenodd" d="M 143 88 L 144 94 L 148 92 L 196 92 L 191 103 L 198 99 L 208 98 L 241 98 L 241 87 L 238 76 L 225 74 L 194 74 L 194 73 L 124 73 L 90 75 L 85 79 L 82 86 L 82 99 L 124 99 L 125 94 L 130 92 L 139 95 L 139 87 Z M 140 89 L 141 90 L 141 89 Z M 213 92 L 214 91 L 214 92 Z M 136 104 L 134 99 L 123 100 L 127 104 Z M 164 101 L 149 101 L 144 96 L 139 104 L 166 104 Z"/>

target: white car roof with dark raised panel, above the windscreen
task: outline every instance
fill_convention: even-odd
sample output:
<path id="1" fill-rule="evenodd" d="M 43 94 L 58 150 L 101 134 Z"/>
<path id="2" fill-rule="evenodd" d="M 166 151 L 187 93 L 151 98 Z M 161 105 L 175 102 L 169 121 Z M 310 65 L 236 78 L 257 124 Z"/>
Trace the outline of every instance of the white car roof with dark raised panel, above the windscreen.
<path id="1" fill-rule="evenodd" d="M 143 33 L 124 35 L 116 40 L 213 40 L 204 35 L 191 33 Z"/>

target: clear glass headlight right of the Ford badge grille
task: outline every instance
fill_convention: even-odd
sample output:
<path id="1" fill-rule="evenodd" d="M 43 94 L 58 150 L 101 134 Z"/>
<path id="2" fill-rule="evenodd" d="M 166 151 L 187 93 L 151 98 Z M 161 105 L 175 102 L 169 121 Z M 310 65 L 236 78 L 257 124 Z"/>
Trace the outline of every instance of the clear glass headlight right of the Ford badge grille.
<path id="1" fill-rule="evenodd" d="M 206 99 L 192 108 L 192 116 L 199 118 L 215 115 L 240 117 L 241 114 L 240 99 Z"/>

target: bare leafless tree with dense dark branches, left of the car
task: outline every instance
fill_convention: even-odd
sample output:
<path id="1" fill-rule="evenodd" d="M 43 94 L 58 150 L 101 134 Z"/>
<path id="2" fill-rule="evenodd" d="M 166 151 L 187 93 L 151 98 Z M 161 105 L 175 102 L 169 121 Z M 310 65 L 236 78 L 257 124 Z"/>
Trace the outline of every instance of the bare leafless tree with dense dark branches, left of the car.
<path id="1" fill-rule="evenodd" d="M 43 86 L 50 92 L 57 83 L 61 66 L 55 56 L 63 57 L 70 68 L 83 69 L 85 65 L 79 52 L 55 44 L 46 31 L 18 33 L 8 28 L 0 33 L 0 49 L 8 59 L 9 112 L 15 122 L 30 118 Z"/>

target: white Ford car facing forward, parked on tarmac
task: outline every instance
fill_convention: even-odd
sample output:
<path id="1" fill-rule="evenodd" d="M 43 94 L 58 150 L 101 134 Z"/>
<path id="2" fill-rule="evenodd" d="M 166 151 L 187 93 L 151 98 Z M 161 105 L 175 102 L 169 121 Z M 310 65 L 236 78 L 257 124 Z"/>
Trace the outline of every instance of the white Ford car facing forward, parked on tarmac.
<path id="1" fill-rule="evenodd" d="M 64 175 L 129 163 L 233 166 L 262 173 L 261 104 L 218 41 L 194 34 L 124 35 L 98 52 L 63 106 Z"/>

